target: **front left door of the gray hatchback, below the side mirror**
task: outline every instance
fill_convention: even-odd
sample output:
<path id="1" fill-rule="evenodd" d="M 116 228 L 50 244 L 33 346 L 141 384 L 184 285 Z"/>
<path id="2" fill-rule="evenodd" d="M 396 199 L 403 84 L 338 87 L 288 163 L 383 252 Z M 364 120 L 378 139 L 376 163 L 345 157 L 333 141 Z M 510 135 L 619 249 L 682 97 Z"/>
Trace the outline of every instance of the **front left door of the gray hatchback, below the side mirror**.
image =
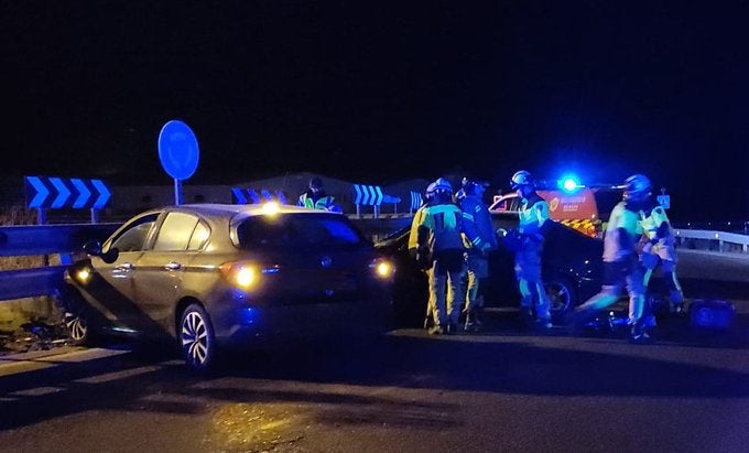
<path id="1" fill-rule="evenodd" d="M 117 259 L 107 262 L 91 257 L 97 278 L 87 288 L 88 301 L 113 325 L 138 328 L 142 309 L 135 295 L 137 262 L 151 239 L 159 212 L 132 218 L 104 244 L 102 251 L 117 250 Z"/>

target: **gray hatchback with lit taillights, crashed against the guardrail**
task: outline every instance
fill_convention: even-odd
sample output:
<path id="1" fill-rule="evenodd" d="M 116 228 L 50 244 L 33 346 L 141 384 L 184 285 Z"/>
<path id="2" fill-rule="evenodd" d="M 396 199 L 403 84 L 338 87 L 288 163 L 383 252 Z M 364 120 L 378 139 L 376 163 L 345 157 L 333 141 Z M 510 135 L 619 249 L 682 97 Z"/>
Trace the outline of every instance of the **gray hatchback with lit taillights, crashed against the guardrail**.
<path id="1" fill-rule="evenodd" d="M 182 205 L 139 214 L 65 274 L 74 339 L 176 338 L 208 368 L 225 344 L 390 324 L 393 268 L 344 215 L 291 206 Z"/>

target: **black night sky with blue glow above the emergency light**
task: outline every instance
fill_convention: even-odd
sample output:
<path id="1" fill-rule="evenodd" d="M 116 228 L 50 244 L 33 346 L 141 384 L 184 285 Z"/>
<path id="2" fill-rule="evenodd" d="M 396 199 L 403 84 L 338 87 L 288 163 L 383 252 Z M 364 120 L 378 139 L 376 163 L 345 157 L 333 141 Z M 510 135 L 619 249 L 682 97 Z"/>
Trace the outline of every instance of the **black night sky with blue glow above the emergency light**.
<path id="1" fill-rule="evenodd" d="M 171 184 L 182 119 L 185 184 L 643 172 L 749 218 L 749 7 L 712 3 L 2 1 L 0 172 Z"/>

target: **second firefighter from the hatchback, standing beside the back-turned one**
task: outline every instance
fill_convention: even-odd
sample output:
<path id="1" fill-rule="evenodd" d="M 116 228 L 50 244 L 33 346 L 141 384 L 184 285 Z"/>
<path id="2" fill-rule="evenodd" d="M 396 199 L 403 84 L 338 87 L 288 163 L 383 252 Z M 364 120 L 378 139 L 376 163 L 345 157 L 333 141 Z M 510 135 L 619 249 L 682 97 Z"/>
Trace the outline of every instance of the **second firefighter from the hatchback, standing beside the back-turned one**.
<path id="1" fill-rule="evenodd" d="M 459 192 L 460 209 L 464 218 L 473 224 L 476 237 L 468 242 L 467 247 L 467 282 L 464 312 L 466 314 L 465 330 L 478 332 L 481 326 L 480 312 L 484 308 L 484 294 L 480 294 L 481 281 L 489 277 L 489 262 L 487 256 L 490 250 L 497 248 L 497 234 L 491 224 L 491 214 L 484 204 L 486 185 L 470 180 L 463 180 Z"/>

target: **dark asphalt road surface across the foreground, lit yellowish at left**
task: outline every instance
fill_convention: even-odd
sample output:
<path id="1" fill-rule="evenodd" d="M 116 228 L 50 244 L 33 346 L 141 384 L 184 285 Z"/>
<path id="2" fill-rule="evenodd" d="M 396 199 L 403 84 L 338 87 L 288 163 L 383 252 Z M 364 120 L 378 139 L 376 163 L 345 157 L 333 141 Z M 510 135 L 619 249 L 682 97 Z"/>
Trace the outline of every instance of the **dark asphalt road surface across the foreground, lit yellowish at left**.
<path id="1" fill-rule="evenodd" d="M 209 376 L 149 345 L 9 355 L 0 450 L 746 452 L 749 302 L 735 303 L 728 332 L 671 319 L 653 345 L 527 333 L 497 310 L 479 335 L 305 342 Z"/>

